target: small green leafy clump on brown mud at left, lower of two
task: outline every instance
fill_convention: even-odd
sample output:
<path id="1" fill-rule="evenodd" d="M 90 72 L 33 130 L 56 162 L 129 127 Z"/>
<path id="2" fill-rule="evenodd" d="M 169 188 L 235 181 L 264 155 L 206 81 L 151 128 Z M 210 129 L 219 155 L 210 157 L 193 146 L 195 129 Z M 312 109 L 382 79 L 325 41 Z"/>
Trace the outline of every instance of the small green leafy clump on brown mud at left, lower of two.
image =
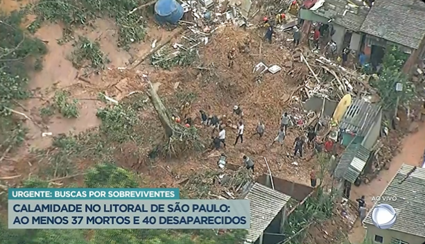
<path id="1" fill-rule="evenodd" d="M 58 110 L 65 118 L 77 118 L 80 115 L 78 111 L 78 100 L 70 99 L 71 93 L 59 90 L 53 97 L 53 107 Z"/>

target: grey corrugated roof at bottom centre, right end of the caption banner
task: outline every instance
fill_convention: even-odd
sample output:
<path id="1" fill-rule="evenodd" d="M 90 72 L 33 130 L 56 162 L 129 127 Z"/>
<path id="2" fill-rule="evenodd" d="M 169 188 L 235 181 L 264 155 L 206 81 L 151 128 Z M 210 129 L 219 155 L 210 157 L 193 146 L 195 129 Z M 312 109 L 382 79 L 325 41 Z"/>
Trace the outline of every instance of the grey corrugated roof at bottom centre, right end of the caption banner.
<path id="1" fill-rule="evenodd" d="M 251 200 L 251 228 L 248 229 L 246 239 L 254 243 L 279 214 L 279 211 L 285 207 L 290 196 L 263 184 L 255 183 L 245 199 Z"/>

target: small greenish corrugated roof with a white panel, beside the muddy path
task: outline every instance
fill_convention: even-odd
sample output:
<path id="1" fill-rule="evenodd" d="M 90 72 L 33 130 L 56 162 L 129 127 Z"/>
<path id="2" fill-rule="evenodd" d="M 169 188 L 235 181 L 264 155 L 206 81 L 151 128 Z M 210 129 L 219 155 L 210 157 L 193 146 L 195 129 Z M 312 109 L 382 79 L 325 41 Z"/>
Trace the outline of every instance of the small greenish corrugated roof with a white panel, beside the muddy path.
<path id="1" fill-rule="evenodd" d="M 369 156 L 370 150 L 358 144 L 350 144 L 345 148 L 335 168 L 335 177 L 354 183 L 365 168 Z"/>

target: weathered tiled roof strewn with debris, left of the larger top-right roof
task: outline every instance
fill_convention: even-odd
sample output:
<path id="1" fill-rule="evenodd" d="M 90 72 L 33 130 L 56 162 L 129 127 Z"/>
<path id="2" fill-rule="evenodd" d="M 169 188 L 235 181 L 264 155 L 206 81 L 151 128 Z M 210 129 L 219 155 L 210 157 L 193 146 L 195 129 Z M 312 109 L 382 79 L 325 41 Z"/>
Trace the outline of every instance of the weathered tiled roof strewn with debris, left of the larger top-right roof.
<path id="1" fill-rule="evenodd" d="M 316 15 L 333 19 L 333 23 L 349 30 L 359 31 L 365 21 L 369 8 L 358 6 L 349 8 L 346 0 L 325 0 L 322 7 L 313 11 Z M 351 6 L 354 7 L 352 4 Z M 347 9 L 349 8 L 349 9 Z"/>

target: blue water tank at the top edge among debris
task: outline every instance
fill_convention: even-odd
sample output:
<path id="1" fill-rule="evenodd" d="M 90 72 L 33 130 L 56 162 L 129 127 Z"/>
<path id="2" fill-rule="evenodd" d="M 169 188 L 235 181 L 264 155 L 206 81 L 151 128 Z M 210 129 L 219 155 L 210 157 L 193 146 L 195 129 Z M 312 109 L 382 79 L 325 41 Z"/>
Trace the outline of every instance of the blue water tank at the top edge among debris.
<path id="1" fill-rule="evenodd" d="M 159 0 L 155 3 L 155 19 L 159 24 L 177 24 L 183 14 L 182 5 L 175 0 Z"/>

